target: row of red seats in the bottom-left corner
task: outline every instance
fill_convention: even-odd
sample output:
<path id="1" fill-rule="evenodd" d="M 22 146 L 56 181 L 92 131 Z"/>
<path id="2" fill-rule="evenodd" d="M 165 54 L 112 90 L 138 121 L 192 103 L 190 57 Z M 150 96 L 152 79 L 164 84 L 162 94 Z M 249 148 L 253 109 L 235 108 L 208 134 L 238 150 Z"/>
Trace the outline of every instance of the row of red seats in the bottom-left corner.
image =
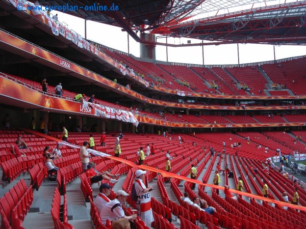
<path id="1" fill-rule="evenodd" d="M 22 227 L 22 222 L 27 215 L 33 203 L 33 189 L 32 186 L 27 188 L 24 180 L 20 180 L 9 192 L 0 199 L 2 215 L 2 228 L 7 222 L 11 222 L 12 228 L 19 229 Z M 4 227 L 5 228 L 5 227 Z"/>

